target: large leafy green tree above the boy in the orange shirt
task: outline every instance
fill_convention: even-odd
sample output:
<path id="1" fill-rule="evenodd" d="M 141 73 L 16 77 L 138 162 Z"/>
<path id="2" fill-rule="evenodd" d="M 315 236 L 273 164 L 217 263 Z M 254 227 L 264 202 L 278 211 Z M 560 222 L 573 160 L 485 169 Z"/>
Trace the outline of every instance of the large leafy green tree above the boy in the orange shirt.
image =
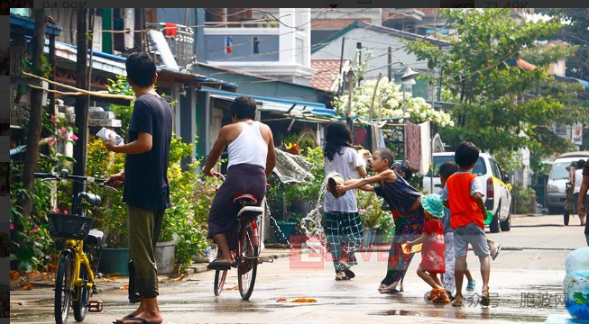
<path id="1" fill-rule="evenodd" d="M 439 50 L 425 40 L 408 44 L 409 51 L 441 67 L 443 85 L 458 103 L 452 111 L 454 128 L 440 131 L 452 145 L 469 140 L 479 148 L 512 157 L 518 148 L 541 155 L 566 150 L 566 139 L 550 135 L 554 122 L 586 121 L 589 113 L 575 101 L 578 85 L 557 83 L 548 64 L 566 57 L 563 46 L 541 46 L 555 35 L 560 16 L 546 22 L 517 22 L 508 9 L 443 10 L 456 30 L 451 46 Z M 519 58 L 533 59 L 536 68 L 521 68 Z M 551 139 L 547 145 L 544 139 Z"/>

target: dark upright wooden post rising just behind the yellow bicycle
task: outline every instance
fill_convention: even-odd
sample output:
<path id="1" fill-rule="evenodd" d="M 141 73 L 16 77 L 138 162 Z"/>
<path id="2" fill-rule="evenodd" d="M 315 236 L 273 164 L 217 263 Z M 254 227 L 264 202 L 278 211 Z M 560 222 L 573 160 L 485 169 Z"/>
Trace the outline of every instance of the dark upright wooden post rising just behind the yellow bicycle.
<path id="1" fill-rule="evenodd" d="M 76 87 L 88 89 L 87 85 L 87 9 L 78 9 L 78 53 L 76 61 Z M 76 127 L 78 142 L 74 146 L 74 175 L 86 175 L 86 153 L 88 132 L 88 96 L 76 97 Z M 74 195 L 84 191 L 85 184 L 74 183 Z M 76 211 L 72 211 L 74 213 Z"/>

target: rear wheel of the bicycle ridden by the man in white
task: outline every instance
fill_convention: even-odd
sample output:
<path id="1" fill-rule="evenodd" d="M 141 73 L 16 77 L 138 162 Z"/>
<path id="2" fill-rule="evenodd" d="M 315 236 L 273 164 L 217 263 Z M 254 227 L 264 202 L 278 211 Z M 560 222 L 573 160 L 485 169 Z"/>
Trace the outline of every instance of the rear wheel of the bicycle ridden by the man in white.
<path id="1" fill-rule="evenodd" d="M 260 250 L 257 230 L 251 225 L 242 230 L 240 239 L 240 262 L 237 266 L 237 281 L 242 299 L 247 301 L 252 296 L 255 275 L 258 269 L 258 253 Z"/>

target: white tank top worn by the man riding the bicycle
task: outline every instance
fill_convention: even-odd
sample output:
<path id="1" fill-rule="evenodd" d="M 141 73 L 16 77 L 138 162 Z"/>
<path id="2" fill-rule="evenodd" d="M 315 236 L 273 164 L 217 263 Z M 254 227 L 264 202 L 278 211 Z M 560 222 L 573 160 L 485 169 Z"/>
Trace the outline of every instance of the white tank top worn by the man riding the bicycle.
<path id="1" fill-rule="evenodd" d="M 249 164 L 266 168 L 266 157 L 268 157 L 268 145 L 262 138 L 260 122 L 253 121 L 248 124 L 240 121 L 242 132 L 237 139 L 229 143 L 229 163 L 227 168 L 239 164 Z"/>

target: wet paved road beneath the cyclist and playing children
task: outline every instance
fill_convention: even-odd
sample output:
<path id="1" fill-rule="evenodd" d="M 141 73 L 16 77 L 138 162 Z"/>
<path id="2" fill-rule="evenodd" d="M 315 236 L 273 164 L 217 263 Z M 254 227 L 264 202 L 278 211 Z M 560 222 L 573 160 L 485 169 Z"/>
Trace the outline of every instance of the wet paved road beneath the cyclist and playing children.
<path id="1" fill-rule="evenodd" d="M 576 222 L 575 222 L 576 221 Z M 562 223 L 557 216 L 514 219 L 514 224 Z M 578 220 L 572 220 L 576 225 Z M 583 229 L 569 227 L 524 227 L 511 232 L 490 234 L 504 247 L 584 247 Z M 188 280 L 161 285 L 161 311 L 165 323 L 477 323 L 545 322 L 550 315 L 565 316 L 557 306 L 565 276 L 564 263 L 570 251 L 564 249 L 504 250 L 492 263 L 491 293 L 496 298 L 490 308 L 466 303 L 463 309 L 447 306 L 437 309 L 424 302 L 428 285 L 415 274 L 420 257 L 416 256 L 405 279 L 406 293 L 383 295 L 376 288 L 384 275 L 386 254 L 358 255 L 356 278 L 336 282 L 333 267 L 313 256 L 298 257 L 299 262 L 282 258 L 259 267 L 258 281 L 250 302 L 243 302 L 237 291 L 225 291 L 216 298 L 212 292 L 212 272 L 192 275 Z M 305 267 L 293 266 L 300 264 Z M 319 261 L 318 263 L 316 261 Z M 478 283 L 478 260 L 468 259 Z M 311 264 L 318 265 L 314 268 Z M 225 287 L 237 284 L 234 276 Z M 480 284 L 474 293 L 480 293 Z M 545 300 L 539 304 L 538 293 Z M 125 291 L 97 295 L 105 302 L 102 313 L 90 313 L 84 323 L 110 323 L 132 310 Z M 528 297 L 522 301 L 522 294 Z M 470 293 L 467 296 L 471 295 Z M 534 300 L 532 301 L 532 296 Z M 315 303 L 276 302 L 278 298 L 314 298 Z M 12 322 L 51 323 L 52 303 L 15 306 Z M 73 322 L 73 317 L 70 315 Z"/>

